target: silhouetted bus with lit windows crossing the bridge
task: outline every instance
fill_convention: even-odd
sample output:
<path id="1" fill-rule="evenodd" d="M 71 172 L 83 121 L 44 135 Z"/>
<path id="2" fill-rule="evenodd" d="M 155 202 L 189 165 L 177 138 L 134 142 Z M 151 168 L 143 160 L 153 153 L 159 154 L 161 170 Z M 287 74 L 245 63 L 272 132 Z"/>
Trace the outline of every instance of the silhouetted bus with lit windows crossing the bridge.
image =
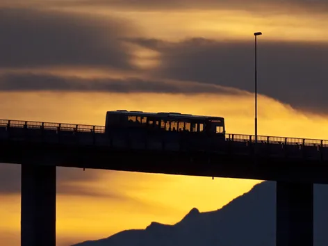
<path id="1" fill-rule="evenodd" d="M 147 129 L 225 136 L 224 118 L 182 113 L 146 113 L 116 110 L 106 114 L 105 131 L 110 129 Z"/>

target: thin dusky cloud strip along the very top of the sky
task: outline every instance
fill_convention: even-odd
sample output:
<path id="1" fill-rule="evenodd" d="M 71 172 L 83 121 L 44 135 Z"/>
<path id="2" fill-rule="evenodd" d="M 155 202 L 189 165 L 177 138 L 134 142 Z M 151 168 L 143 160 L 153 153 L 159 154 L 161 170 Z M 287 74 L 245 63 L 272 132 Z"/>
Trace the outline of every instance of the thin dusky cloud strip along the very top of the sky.
<path id="1" fill-rule="evenodd" d="M 247 10 L 261 15 L 259 10 L 265 13 L 281 12 L 322 12 L 328 9 L 327 0 L 60 0 L 56 1 L 60 6 L 105 6 L 122 10 Z"/>

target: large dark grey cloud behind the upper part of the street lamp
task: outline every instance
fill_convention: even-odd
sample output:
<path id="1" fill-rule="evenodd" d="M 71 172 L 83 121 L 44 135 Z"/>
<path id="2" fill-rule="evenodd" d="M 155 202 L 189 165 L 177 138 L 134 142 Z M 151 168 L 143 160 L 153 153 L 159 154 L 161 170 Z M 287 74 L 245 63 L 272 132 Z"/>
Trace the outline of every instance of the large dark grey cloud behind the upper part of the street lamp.
<path id="1" fill-rule="evenodd" d="M 254 40 L 131 40 L 161 53 L 153 76 L 254 92 Z M 258 42 L 258 91 L 295 108 L 328 112 L 328 43 Z"/>

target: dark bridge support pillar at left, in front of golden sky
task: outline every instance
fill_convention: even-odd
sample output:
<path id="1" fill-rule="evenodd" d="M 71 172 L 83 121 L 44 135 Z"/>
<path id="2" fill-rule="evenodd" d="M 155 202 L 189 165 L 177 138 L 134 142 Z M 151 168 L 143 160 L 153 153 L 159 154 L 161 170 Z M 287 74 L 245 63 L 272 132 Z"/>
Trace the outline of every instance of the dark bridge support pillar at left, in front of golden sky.
<path id="1" fill-rule="evenodd" d="M 56 166 L 22 165 L 21 245 L 56 246 Z"/>

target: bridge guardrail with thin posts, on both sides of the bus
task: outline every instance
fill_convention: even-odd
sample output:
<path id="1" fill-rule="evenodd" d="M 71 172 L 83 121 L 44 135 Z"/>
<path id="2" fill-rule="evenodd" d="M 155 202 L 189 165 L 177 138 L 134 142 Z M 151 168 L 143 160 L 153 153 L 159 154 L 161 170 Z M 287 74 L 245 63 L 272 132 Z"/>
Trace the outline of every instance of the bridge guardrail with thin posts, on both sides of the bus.
<path id="1" fill-rule="evenodd" d="M 0 127 L 6 128 L 26 128 L 26 129 L 44 129 L 54 131 L 77 131 L 90 133 L 105 133 L 105 126 L 92 126 L 83 124 L 67 124 L 53 122 L 33 122 L 22 120 L 0 120 Z M 233 142 L 255 142 L 254 135 L 245 134 L 226 134 L 227 141 Z M 314 147 L 328 147 L 328 140 L 307 139 L 307 138 L 288 138 L 277 136 L 258 136 L 258 143 L 275 145 L 300 145 Z"/>

